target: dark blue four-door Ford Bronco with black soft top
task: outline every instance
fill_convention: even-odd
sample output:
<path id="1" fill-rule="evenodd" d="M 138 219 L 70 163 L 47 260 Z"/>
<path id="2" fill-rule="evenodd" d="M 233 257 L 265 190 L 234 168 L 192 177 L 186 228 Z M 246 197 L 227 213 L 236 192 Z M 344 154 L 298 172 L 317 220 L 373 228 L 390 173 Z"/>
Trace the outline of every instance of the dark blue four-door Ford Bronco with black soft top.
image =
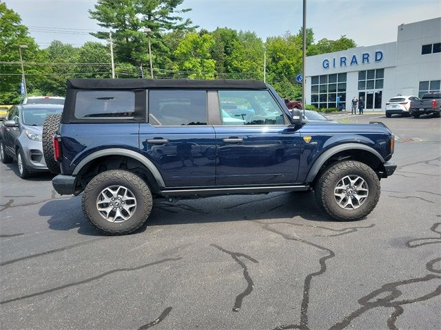
<path id="1" fill-rule="evenodd" d="M 156 199 L 315 190 L 338 221 L 366 217 L 393 174 L 381 123 L 308 123 L 254 80 L 71 79 L 43 131 L 52 184 L 90 223 L 129 234 Z"/>

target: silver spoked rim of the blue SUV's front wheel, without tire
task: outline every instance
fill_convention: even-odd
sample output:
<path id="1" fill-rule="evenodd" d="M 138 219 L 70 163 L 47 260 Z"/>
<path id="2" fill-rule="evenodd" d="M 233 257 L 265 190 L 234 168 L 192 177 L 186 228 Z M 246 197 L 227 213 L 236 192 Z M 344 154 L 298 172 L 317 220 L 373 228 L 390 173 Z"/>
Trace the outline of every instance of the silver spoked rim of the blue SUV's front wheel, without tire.
<path id="1" fill-rule="evenodd" d="M 368 195 L 367 183 L 358 175 L 343 177 L 334 188 L 336 202 L 340 208 L 345 210 L 356 210 L 365 203 Z"/>

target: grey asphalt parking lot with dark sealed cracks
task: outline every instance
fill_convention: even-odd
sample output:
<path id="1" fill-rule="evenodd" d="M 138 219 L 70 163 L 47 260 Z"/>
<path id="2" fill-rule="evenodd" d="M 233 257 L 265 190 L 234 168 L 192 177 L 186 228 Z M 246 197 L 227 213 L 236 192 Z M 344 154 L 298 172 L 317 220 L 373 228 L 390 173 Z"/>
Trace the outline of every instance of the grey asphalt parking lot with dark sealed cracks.
<path id="1" fill-rule="evenodd" d="M 108 237 L 50 175 L 0 164 L 1 328 L 440 329 L 440 118 L 330 117 L 398 135 L 362 221 L 271 193 L 156 203 L 139 232 Z"/>

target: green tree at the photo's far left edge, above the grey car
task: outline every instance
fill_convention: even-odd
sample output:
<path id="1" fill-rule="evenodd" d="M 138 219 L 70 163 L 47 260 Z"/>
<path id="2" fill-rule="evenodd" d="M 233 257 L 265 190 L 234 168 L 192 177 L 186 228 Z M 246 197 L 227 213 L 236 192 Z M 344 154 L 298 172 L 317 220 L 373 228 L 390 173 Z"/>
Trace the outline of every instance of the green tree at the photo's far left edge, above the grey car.
<path id="1" fill-rule="evenodd" d="M 0 104 L 13 104 L 19 101 L 21 85 L 21 66 L 19 45 L 27 45 L 22 49 L 24 62 L 45 62 L 45 54 L 39 50 L 37 43 L 30 37 L 28 28 L 21 24 L 19 14 L 0 2 Z M 1 63 L 15 62 L 15 63 Z M 25 65 L 26 86 L 32 92 L 38 76 L 45 67 Z"/>

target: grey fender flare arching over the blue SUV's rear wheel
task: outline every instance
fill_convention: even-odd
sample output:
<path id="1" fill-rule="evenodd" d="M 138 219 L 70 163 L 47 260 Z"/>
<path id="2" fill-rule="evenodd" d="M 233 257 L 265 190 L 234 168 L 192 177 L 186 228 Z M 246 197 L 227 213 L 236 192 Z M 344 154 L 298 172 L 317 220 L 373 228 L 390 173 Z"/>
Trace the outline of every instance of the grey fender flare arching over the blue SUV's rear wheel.
<path id="1" fill-rule="evenodd" d="M 120 155 L 125 157 L 130 157 L 132 159 L 137 160 L 141 164 L 143 164 L 150 172 L 152 173 L 153 177 L 156 179 L 156 182 L 158 183 L 158 186 L 161 188 L 165 187 L 164 179 L 161 173 L 159 172 L 158 168 L 152 163 L 150 159 L 147 157 L 144 157 L 140 153 L 136 153 L 136 151 L 127 150 L 123 148 L 107 148 L 100 151 L 95 151 L 94 153 L 91 153 L 90 155 L 87 155 L 84 157 L 81 162 L 79 162 L 78 165 L 75 166 L 74 172 L 72 175 L 78 175 L 81 168 L 89 164 L 92 160 L 103 157 L 103 156 L 114 156 L 114 155 Z"/>

